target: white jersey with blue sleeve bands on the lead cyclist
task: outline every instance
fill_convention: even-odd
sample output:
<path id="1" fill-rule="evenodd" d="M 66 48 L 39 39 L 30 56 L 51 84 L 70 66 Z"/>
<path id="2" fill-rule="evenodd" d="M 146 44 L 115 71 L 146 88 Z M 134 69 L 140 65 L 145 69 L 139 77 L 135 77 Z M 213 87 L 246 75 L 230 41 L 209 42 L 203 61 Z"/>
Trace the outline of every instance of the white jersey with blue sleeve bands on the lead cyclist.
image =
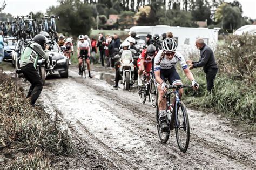
<path id="1" fill-rule="evenodd" d="M 178 51 L 175 52 L 175 55 L 171 60 L 164 57 L 164 59 L 162 59 L 161 62 L 157 64 L 159 62 L 159 59 L 161 58 L 162 53 L 163 50 L 158 51 L 156 57 L 154 58 L 154 71 L 172 69 L 178 62 L 180 63 L 183 70 L 187 68 L 185 58 Z"/>

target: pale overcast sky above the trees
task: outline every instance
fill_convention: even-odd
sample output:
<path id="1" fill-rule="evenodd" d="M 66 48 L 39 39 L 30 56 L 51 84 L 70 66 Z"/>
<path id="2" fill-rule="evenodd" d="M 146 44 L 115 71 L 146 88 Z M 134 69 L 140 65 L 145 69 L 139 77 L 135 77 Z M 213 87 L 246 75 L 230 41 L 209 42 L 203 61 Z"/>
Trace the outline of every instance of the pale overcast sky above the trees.
<path id="1" fill-rule="evenodd" d="M 232 2 L 232 0 L 225 0 Z M 256 19 L 256 0 L 238 0 L 242 4 L 243 16 Z M 7 3 L 2 12 L 11 13 L 13 16 L 27 15 L 29 12 L 46 12 L 49 6 L 57 5 L 57 0 L 5 0 Z M 0 0 L 2 5 L 3 0 Z"/>

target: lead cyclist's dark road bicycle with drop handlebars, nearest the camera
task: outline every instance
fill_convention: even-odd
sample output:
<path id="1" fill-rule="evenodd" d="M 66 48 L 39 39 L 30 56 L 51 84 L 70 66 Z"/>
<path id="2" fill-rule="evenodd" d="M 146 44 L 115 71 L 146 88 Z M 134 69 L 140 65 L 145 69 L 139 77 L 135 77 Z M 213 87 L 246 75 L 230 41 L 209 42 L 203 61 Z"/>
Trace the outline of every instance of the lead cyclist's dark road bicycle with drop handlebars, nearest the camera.
<path id="1" fill-rule="evenodd" d="M 157 131 L 161 142 L 166 143 L 169 139 L 170 131 L 175 129 L 176 139 L 178 143 L 178 147 L 181 152 L 186 152 L 189 142 L 190 142 L 190 124 L 188 121 L 188 115 L 186 106 L 179 98 L 179 89 L 182 88 L 191 88 L 192 85 L 175 85 L 170 86 L 167 85 L 167 92 L 164 95 L 166 98 L 166 120 L 167 124 L 169 125 L 169 130 L 164 132 L 161 130 L 160 120 L 159 118 L 159 111 L 157 106 L 156 117 L 157 117 Z M 173 91 L 173 89 L 175 89 Z M 173 110 L 172 110 L 172 99 L 171 94 L 175 94 L 176 99 L 174 101 Z"/>

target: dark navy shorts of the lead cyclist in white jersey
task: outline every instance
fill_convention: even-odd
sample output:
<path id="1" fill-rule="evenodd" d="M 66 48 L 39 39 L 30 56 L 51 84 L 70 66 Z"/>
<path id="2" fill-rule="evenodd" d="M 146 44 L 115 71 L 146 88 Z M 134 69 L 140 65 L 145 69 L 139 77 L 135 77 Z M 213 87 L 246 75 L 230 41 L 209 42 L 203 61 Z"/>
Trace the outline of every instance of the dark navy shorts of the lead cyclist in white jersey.
<path id="1" fill-rule="evenodd" d="M 164 80 L 166 82 L 166 78 L 169 82 L 170 85 L 174 85 L 177 83 L 182 84 L 182 81 L 179 77 L 179 74 L 177 73 L 175 67 L 172 67 L 171 69 L 161 69 L 160 70 L 160 77 L 162 80 Z M 160 85 L 159 83 L 157 83 L 157 86 Z"/>

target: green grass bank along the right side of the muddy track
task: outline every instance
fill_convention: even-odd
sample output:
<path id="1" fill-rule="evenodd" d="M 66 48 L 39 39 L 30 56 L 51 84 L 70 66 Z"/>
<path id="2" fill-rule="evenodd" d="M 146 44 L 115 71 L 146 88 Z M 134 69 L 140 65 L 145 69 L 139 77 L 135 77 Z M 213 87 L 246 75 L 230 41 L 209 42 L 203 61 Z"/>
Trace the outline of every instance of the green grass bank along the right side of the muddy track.
<path id="1" fill-rule="evenodd" d="M 179 75 L 184 83 L 190 84 L 183 71 Z M 191 96 L 191 91 L 184 90 L 184 101 L 187 106 L 199 108 L 202 111 L 210 111 L 225 115 L 226 117 L 238 118 L 242 121 L 255 122 L 255 86 L 247 87 L 243 81 L 232 80 L 225 74 L 217 73 L 214 81 L 214 89 L 211 94 L 206 89 L 205 73 L 201 69 L 193 69 L 194 78 L 200 85 L 199 95 Z"/>

